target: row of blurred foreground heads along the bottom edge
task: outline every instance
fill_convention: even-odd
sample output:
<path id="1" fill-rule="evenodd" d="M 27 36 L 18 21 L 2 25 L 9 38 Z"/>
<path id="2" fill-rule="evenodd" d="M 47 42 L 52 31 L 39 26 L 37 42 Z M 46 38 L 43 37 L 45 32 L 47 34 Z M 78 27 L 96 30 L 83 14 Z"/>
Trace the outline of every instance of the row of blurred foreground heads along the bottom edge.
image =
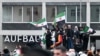
<path id="1" fill-rule="evenodd" d="M 53 51 L 40 47 L 22 46 L 17 47 L 13 51 L 13 54 L 9 52 L 8 48 L 5 48 L 3 52 L 4 53 L 2 55 L 0 54 L 0 56 L 100 56 L 100 49 L 97 50 L 95 55 L 91 50 L 76 52 L 75 49 L 67 50 L 63 46 L 57 46 Z"/>

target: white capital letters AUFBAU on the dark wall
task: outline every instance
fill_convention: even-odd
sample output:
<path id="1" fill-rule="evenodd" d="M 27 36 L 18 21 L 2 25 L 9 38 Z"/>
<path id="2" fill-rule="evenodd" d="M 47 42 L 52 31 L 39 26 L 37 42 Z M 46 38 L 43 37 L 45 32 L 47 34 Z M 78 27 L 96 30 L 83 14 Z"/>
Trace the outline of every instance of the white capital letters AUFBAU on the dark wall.
<path id="1" fill-rule="evenodd" d="M 4 42 L 39 42 L 40 36 L 34 35 L 3 35 Z"/>

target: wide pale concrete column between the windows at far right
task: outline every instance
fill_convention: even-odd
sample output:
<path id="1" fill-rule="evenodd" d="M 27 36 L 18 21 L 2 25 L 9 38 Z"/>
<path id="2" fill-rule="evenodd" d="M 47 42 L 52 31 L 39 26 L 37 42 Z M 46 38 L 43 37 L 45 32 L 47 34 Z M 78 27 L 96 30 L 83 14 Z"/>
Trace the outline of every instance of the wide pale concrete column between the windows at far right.
<path id="1" fill-rule="evenodd" d="M 90 27 L 90 0 L 87 0 L 87 3 L 86 3 L 86 24 L 87 26 Z"/>

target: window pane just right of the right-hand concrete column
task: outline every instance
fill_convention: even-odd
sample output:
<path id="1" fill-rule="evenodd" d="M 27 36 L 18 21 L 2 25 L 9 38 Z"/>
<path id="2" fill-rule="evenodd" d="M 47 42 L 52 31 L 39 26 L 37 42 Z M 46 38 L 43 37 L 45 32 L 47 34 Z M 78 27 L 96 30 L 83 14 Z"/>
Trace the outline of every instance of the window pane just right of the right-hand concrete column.
<path id="1" fill-rule="evenodd" d="M 91 22 L 99 22 L 99 6 L 91 6 Z"/>

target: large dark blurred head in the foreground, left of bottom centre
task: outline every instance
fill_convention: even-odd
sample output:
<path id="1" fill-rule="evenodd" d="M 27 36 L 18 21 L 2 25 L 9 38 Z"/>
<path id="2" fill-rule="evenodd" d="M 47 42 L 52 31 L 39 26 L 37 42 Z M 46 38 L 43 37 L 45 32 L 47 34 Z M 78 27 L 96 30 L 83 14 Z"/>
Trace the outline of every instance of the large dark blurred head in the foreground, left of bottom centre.
<path id="1" fill-rule="evenodd" d="M 21 48 L 22 56 L 53 56 L 53 53 L 42 48 L 23 46 Z M 27 51 L 26 51 L 27 50 Z"/>

